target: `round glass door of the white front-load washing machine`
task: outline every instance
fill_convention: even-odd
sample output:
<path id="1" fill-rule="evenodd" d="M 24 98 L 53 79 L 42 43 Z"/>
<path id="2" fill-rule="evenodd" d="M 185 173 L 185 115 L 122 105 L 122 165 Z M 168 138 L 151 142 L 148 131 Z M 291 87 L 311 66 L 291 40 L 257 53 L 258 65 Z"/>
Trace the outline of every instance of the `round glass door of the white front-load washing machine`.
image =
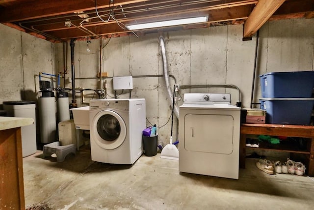
<path id="1" fill-rule="evenodd" d="M 92 121 L 94 141 L 105 150 L 118 148 L 127 136 L 127 127 L 122 117 L 111 110 L 103 110 Z"/>

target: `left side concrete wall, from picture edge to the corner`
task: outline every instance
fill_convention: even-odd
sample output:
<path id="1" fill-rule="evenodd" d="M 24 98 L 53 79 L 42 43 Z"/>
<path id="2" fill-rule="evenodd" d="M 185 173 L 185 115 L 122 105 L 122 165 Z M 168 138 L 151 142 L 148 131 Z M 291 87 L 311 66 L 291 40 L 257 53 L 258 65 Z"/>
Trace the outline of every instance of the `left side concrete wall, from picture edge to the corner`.
<path id="1" fill-rule="evenodd" d="M 39 72 L 56 72 L 55 44 L 2 24 L 0 40 L 0 104 L 15 100 L 36 101 Z"/>

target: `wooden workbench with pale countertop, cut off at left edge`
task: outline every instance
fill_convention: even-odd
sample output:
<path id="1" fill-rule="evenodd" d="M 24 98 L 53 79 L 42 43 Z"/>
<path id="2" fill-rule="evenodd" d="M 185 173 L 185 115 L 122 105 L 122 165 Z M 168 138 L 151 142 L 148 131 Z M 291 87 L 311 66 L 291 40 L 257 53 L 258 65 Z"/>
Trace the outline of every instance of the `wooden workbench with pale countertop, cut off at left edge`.
<path id="1" fill-rule="evenodd" d="M 0 117 L 0 210 L 25 210 L 21 126 L 33 123 Z"/>

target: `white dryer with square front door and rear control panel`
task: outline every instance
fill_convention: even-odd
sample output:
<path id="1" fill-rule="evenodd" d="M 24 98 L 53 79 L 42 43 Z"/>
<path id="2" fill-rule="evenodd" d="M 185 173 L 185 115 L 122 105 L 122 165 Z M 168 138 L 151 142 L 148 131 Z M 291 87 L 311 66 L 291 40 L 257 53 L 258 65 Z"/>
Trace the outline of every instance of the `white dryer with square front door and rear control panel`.
<path id="1" fill-rule="evenodd" d="M 228 93 L 186 93 L 179 115 L 179 171 L 238 179 L 240 108 Z"/>

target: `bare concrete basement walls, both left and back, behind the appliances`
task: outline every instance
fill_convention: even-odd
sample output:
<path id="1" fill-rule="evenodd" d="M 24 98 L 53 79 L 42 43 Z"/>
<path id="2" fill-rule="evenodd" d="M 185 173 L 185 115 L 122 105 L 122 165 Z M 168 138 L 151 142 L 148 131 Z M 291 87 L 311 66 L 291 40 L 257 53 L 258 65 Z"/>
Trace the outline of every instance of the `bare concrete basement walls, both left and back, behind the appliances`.
<path id="1" fill-rule="evenodd" d="M 63 72 L 63 45 L 35 38 L 24 32 L 0 25 L 0 104 L 6 100 L 34 100 L 39 91 L 38 72 L 56 74 Z M 250 107 L 254 71 L 256 36 L 251 41 L 242 41 L 242 25 L 218 26 L 208 29 L 182 30 L 164 34 L 168 71 L 179 85 L 236 85 L 242 94 L 242 106 Z M 291 19 L 266 23 L 260 30 L 258 65 L 253 102 L 261 96 L 258 75 L 275 71 L 314 70 L 314 19 Z M 109 41 L 109 42 L 108 42 Z M 134 76 L 132 98 L 146 99 L 146 117 L 161 126 L 171 114 L 162 77 L 136 78 L 140 75 L 163 75 L 163 64 L 158 45 L 158 34 L 119 37 L 103 40 L 102 68 L 113 76 Z M 86 41 L 75 42 L 76 87 L 100 89 L 100 39 L 92 39 L 91 52 L 86 51 Z M 66 78 L 71 77 L 71 55 L 68 45 Z M 81 79 L 78 79 L 81 78 Z M 107 84 L 107 98 L 114 97 L 112 79 L 102 80 Z M 175 84 L 170 78 L 171 88 Z M 61 86 L 64 87 L 63 81 Z M 65 87 L 72 87 L 66 82 Z M 21 95 L 21 91 L 25 94 Z M 233 89 L 190 89 L 185 92 L 230 92 L 232 103 L 238 101 Z M 71 91 L 69 92 L 71 102 Z M 88 94 L 87 94 L 88 93 Z M 118 98 L 128 98 L 118 90 Z M 98 98 L 93 91 L 86 91 L 86 101 Z M 119 95 L 120 94 L 120 95 Z M 77 93 L 78 106 L 81 104 Z M 178 102 L 181 105 L 182 101 Z M 147 121 L 147 126 L 149 126 Z M 159 140 L 167 144 L 170 139 L 171 119 L 159 129 Z M 174 140 L 177 140 L 177 120 Z"/>

